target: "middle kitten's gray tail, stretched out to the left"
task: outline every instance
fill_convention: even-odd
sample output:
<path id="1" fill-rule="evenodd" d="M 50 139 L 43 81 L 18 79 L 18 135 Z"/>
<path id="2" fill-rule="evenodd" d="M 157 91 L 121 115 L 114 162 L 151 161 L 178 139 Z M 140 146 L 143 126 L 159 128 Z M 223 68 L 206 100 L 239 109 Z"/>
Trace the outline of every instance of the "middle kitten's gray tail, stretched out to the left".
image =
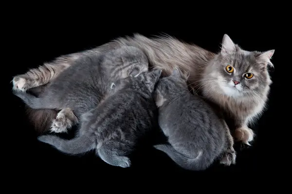
<path id="1" fill-rule="evenodd" d="M 55 135 L 39 136 L 37 139 L 41 142 L 54 146 L 57 150 L 71 155 L 82 154 L 96 148 L 94 137 L 78 136 L 73 139 L 62 139 Z"/>

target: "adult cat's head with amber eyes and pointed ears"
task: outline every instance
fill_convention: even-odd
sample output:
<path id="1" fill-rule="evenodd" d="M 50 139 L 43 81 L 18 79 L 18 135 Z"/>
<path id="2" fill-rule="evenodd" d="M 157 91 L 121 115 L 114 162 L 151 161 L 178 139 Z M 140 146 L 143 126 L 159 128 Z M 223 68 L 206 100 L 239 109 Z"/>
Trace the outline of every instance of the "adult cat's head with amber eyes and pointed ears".
<path id="1" fill-rule="evenodd" d="M 273 66 L 270 61 L 273 54 L 274 50 L 245 51 L 224 35 L 221 52 L 203 74 L 203 93 L 208 96 L 215 92 L 228 97 L 266 95 L 272 83 L 267 66 Z"/>

